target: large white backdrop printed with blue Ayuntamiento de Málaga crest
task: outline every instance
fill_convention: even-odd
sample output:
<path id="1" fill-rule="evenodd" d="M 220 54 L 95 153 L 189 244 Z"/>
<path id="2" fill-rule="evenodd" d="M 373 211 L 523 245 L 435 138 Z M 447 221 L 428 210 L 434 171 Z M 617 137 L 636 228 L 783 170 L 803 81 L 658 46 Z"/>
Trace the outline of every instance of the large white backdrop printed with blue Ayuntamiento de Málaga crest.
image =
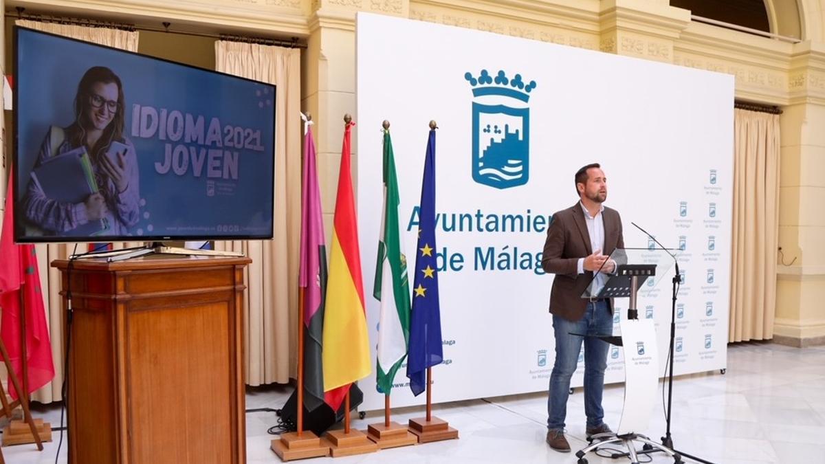
<path id="1" fill-rule="evenodd" d="M 541 271 L 540 253 L 549 216 L 577 201 L 573 174 L 592 162 L 606 173 L 606 206 L 620 211 L 627 247 L 648 247 L 630 221 L 668 247 L 684 245 L 676 373 L 726 367 L 732 76 L 363 13 L 356 36 L 358 228 L 371 343 L 379 310 L 371 294 L 381 122 L 391 123 L 410 273 L 427 124 L 440 127 L 436 240 L 446 255 L 439 260 L 445 362 L 433 368 L 435 402 L 547 390 L 553 277 Z M 655 320 L 663 360 L 670 277 L 648 290 L 639 314 Z M 627 300 L 617 305 L 626 318 Z M 606 381 L 623 381 L 620 349 L 608 356 Z M 414 398 L 406 386 L 405 368 L 395 381 L 394 406 L 422 404 L 423 395 Z M 578 369 L 573 386 L 581 385 Z M 382 408 L 375 377 L 361 386 L 363 409 Z"/>

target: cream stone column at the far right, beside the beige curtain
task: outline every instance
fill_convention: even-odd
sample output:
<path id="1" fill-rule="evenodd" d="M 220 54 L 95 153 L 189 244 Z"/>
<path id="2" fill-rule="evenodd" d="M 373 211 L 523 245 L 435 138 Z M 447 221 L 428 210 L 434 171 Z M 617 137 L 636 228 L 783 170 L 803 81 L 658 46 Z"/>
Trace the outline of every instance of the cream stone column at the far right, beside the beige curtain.
<path id="1" fill-rule="evenodd" d="M 788 86 L 774 339 L 804 347 L 825 343 L 825 44 L 794 45 Z"/>

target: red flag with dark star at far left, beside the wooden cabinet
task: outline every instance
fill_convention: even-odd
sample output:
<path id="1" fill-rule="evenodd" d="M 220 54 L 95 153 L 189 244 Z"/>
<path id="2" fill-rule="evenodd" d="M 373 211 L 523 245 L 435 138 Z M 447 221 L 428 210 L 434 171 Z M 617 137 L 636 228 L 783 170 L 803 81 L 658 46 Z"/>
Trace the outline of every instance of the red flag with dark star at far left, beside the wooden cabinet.
<path id="1" fill-rule="evenodd" d="M 43 293 L 40 291 L 40 275 L 37 272 L 37 257 L 32 244 L 14 243 L 12 178 L 9 178 L 6 192 L 6 212 L 0 231 L 0 338 L 6 344 L 9 360 L 17 376 L 23 372 L 22 344 L 20 333 L 21 310 L 26 311 L 26 367 L 28 369 L 29 393 L 49 383 L 54 378 L 49 326 L 46 324 Z M 22 292 L 22 296 L 21 296 Z M 23 308 L 20 307 L 21 301 Z M 8 392 L 17 398 L 12 382 L 8 382 Z"/>

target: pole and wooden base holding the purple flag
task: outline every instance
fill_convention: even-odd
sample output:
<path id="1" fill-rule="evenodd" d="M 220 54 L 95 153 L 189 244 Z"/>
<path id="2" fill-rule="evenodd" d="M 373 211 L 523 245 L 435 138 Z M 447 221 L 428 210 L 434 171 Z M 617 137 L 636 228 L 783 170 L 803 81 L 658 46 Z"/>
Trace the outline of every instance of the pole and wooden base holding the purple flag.
<path id="1" fill-rule="evenodd" d="M 301 115 L 302 119 L 304 115 Z M 307 113 L 307 121 L 312 121 L 312 115 Z M 304 154 L 309 156 L 309 154 Z M 303 179 L 307 182 L 306 179 Z M 281 438 L 271 441 L 270 449 L 276 453 L 281 461 L 287 462 L 308 457 L 329 456 L 329 446 L 318 438 L 314 432 L 307 430 L 304 433 L 304 305 L 306 287 L 298 286 L 298 378 L 296 392 L 296 428 L 295 432 L 281 433 Z"/>

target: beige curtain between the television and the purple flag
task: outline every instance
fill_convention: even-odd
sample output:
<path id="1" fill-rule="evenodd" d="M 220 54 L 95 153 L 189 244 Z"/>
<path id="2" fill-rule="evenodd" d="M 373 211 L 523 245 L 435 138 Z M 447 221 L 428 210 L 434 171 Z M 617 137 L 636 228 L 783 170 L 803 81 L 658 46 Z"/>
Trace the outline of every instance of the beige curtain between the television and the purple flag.
<path id="1" fill-rule="evenodd" d="M 245 279 L 247 384 L 295 376 L 300 244 L 300 51 L 219 40 L 218 71 L 276 84 L 275 234 L 272 240 L 217 242 L 215 249 L 252 258 Z"/>

